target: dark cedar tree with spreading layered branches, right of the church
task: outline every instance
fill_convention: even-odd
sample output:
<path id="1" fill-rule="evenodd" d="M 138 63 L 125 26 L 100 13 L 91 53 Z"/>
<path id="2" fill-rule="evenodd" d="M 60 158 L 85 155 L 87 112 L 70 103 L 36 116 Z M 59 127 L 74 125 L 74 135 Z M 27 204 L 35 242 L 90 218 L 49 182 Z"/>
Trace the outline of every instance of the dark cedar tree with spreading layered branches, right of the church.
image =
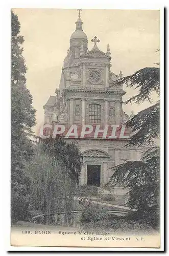
<path id="1" fill-rule="evenodd" d="M 138 89 L 138 94 L 124 102 L 152 102 L 151 94 L 160 95 L 159 68 L 144 68 L 131 76 L 121 78 L 117 84 L 126 83 L 127 87 Z M 128 205 L 134 209 L 128 218 L 157 227 L 159 224 L 159 189 L 160 189 L 160 148 L 155 140 L 160 135 L 160 102 L 140 111 L 127 123 L 133 135 L 127 143 L 130 146 L 148 147 L 141 161 L 126 161 L 112 168 L 114 174 L 109 183 L 128 188 Z"/>

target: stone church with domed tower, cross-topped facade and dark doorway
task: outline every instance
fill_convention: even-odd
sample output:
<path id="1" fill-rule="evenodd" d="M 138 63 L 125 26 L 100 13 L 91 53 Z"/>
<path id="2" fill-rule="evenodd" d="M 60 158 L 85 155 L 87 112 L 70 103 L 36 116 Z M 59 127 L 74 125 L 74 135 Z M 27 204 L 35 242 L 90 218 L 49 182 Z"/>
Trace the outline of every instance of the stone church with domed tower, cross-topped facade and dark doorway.
<path id="1" fill-rule="evenodd" d="M 123 86 L 115 81 L 123 76 L 111 71 L 109 44 L 106 53 L 99 50 L 95 36 L 88 50 L 87 35 L 79 10 L 76 29 L 70 36 L 70 47 L 63 62 L 59 89 L 43 106 L 46 124 L 124 124 L 129 120 L 122 108 Z M 67 139 L 71 141 L 72 139 Z M 128 139 L 78 138 L 83 155 L 81 184 L 104 186 L 112 176 L 111 167 L 125 160 L 139 160 L 142 149 L 125 144 Z"/>

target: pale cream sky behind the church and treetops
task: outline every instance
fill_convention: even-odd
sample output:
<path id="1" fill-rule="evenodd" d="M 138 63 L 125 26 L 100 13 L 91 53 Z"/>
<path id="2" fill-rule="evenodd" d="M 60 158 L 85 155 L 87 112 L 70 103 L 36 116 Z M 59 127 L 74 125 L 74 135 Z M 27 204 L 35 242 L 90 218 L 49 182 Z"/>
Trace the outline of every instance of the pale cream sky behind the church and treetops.
<path id="1" fill-rule="evenodd" d="M 37 124 L 35 134 L 44 122 L 43 105 L 50 95 L 55 96 L 59 87 L 63 60 L 69 49 L 69 39 L 76 29 L 78 11 L 75 9 L 13 9 L 20 22 L 23 35 L 23 57 L 28 71 L 27 87 L 33 96 Z M 88 49 L 92 50 L 91 39 L 96 35 L 98 47 L 106 52 L 110 45 L 111 71 L 123 76 L 131 75 L 145 67 L 156 67 L 160 49 L 159 10 L 82 10 L 83 31 L 88 37 Z M 124 87 L 123 100 L 137 92 Z M 158 100 L 153 94 L 154 102 Z M 148 108 L 149 102 L 140 105 L 124 105 L 130 115 Z"/>

